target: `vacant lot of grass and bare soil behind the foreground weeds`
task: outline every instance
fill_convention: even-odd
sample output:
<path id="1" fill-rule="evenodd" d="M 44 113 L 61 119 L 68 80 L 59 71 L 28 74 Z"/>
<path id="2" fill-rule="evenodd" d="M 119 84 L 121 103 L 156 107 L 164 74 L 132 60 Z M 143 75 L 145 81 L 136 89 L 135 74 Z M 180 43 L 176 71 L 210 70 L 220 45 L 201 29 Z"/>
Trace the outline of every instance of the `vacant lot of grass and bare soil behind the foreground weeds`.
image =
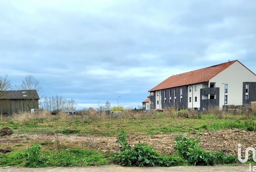
<path id="1" fill-rule="evenodd" d="M 95 149 L 111 155 L 119 146 L 116 140 L 121 128 L 127 131 L 128 143 L 132 147 L 139 142 L 146 143 L 166 155 L 175 152 L 173 142 L 179 134 L 186 134 L 188 138 L 200 137 L 199 146 L 206 151 L 219 150 L 235 155 L 238 143 L 244 148 L 256 147 L 254 114 L 200 114 L 184 117 L 169 116 L 166 113 L 135 113 L 111 117 L 106 114 L 52 116 L 44 112 L 4 118 L 3 127 L 14 131 L 12 135 L 0 137 L 0 150 L 10 151 L 21 151 L 38 144 L 46 151 Z M 104 160 L 104 163 L 99 164 L 109 163 Z"/>

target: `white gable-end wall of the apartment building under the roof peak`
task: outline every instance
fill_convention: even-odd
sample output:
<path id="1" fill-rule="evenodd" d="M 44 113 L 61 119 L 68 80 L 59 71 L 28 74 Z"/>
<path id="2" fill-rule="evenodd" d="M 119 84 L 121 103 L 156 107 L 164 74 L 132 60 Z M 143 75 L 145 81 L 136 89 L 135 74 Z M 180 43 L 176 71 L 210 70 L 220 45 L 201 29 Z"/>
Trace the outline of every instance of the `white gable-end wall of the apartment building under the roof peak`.
<path id="1" fill-rule="evenodd" d="M 215 83 L 220 88 L 220 108 L 224 105 L 224 94 L 227 95 L 226 105 L 242 105 L 243 82 L 256 82 L 256 76 L 238 61 L 210 79 L 209 83 Z M 225 84 L 227 93 L 225 93 Z"/>

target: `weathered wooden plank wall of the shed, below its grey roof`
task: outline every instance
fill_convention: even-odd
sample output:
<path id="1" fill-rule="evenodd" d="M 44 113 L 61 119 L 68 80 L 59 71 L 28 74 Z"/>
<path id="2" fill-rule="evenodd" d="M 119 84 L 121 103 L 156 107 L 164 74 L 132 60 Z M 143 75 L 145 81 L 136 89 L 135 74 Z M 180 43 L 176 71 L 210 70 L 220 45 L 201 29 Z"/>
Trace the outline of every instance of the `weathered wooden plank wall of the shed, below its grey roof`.
<path id="1" fill-rule="evenodd" d="M 30 112 L 30 109 L 39 109 L 38 100 L 0 100 L 0 111 L 10 115 L 19 112 Z"/>

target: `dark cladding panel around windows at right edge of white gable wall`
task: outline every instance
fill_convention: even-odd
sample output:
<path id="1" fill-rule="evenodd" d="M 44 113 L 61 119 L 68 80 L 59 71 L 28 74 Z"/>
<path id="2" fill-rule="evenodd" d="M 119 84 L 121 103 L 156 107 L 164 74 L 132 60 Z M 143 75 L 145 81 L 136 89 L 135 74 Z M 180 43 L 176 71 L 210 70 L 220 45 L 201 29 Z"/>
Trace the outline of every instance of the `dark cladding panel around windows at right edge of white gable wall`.
<path id="1" fill-rule="evenodd" d="M 248 99 L 245 99 L 245 85 L 248 84 Z M 256 101 L 256 82 L 243 82 L 243 105 L 249 105 Z"/>

